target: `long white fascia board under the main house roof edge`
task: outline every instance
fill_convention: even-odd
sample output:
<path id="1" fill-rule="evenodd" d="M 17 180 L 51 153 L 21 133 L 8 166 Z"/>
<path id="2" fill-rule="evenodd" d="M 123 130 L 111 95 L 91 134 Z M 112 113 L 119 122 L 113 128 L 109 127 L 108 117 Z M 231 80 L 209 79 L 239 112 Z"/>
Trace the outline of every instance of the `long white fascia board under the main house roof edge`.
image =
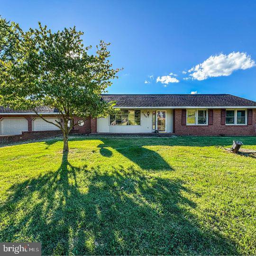
<path id="1" fill-rule="evenodd" d="M 200 107 L 192 107 L 192 106 L 174 106 L 174 107 L 114 107 L 116 109 L 256 109 L 256 106 L 200 106 Z"/>

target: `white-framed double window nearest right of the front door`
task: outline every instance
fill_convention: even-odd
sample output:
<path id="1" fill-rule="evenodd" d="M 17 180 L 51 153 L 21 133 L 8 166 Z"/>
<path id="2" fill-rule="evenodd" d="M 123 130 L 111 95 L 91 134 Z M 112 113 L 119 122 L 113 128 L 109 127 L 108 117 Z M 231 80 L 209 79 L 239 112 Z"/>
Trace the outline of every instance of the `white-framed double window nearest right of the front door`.
<path id="1" fill-rule="evenodd" d="M 187 110 L 187 125 L 208 125 L 208 110 Z"/>

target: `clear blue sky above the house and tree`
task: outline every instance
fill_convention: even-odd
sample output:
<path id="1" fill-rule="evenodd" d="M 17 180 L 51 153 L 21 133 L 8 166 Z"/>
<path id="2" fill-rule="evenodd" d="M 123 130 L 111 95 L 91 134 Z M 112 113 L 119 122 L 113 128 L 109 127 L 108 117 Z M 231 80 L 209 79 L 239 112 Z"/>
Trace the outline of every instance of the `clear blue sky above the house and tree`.
<path id="1" fill-rule="evenodd" d="M 52 30 L 75 25 L 85 45 L 110 42 L 113 66 L 124 70 L 109 93 L 197 91 L 256 101 L 255 0 L 0 0 L 0 6 L 24 30 L 37 21 Z"/>

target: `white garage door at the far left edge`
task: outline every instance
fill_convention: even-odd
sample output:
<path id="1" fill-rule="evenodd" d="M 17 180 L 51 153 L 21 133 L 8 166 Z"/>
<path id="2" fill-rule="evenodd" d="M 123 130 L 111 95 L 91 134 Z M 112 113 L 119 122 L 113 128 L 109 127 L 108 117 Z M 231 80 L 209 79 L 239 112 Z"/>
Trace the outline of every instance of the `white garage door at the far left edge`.
<path id="1" fill-rule="evenodd" d="M 0 121 L 1 135 L 21 134 L 27 131 L 27 119 L 25 118 L 4 118 Z"/>

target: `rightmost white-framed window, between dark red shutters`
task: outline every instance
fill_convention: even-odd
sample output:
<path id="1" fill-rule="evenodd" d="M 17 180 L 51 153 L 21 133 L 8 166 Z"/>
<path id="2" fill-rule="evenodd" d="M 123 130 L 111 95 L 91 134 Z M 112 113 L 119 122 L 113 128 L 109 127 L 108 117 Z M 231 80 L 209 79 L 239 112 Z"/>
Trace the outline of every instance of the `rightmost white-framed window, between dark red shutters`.
<path id="1" fill-rule="evenodd" d="M 246 125 L 247 110 L 226 110 L 226 125 Z"/>

